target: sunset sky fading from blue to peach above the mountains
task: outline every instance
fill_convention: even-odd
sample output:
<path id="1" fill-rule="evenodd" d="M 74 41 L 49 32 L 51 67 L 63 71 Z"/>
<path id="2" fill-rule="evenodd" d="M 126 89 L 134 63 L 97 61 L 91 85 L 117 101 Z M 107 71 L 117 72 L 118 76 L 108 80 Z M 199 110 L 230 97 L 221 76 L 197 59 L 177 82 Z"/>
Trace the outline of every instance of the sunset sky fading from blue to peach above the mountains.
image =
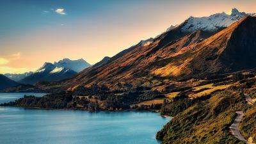
<path id="1" fill-rule="evenodd" d="M 0 74 L 83 58 L 95 64 L 189 16 L 256 12 L 255 0 L 1 0 Z"/>

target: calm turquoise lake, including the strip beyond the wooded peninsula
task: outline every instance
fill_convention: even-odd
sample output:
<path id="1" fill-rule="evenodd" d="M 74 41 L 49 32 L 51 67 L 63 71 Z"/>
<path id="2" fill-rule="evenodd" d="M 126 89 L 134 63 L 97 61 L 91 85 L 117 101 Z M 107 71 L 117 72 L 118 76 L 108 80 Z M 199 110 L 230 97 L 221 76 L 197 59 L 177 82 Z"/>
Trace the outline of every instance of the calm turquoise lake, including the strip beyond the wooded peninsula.
<path id="1" fill-rule="evenodd" d="M 44 93 L 30 93 L 42 96 Z M 15 96 L 12 96 L 15 95 Z M 24 93 L 0 93 L 1 102 Z M 28 95 L 28 93 L 26 93 Z M 13 100 L 13 99 L 12 99 Z M 152 112 L 89 112 L 0 107 L 0 143 L 160 143 L 156 132 L 170 118 Z"/>

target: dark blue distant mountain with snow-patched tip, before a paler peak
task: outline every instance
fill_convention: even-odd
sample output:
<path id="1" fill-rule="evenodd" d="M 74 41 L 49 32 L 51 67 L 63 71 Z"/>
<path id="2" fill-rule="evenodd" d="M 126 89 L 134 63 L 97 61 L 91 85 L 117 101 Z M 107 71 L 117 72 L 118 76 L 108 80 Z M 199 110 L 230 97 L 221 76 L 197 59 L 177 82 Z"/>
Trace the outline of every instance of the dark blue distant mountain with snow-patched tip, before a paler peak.
<path id="1" fill-rule="evenodd" d="M 60 81 L 77 74 L 74 70 L 70 70 L 65 67 L 56 67 L 52 63 L 44 63 L 43 67 L 40 67 L 30 76 L 21 79 L 19 82 L 23 84 L 35 84 L 40 81 Z"/>

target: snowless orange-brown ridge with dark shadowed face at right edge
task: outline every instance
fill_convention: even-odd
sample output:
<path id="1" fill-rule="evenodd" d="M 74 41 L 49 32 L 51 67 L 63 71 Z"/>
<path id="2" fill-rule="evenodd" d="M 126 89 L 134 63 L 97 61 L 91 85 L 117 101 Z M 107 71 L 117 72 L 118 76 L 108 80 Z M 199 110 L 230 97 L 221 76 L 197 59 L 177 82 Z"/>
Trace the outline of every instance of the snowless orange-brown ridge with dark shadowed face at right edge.
<path id="1" fill-rule="evenodd" d="M 256 17 L 245 16 L 216 35 L 183 47 L 167 65 L 157 67 L 151 74 L 181 76 L 218 74 L 256 68 Z M 161 62 L 163 63 L 163 62 Z"/>

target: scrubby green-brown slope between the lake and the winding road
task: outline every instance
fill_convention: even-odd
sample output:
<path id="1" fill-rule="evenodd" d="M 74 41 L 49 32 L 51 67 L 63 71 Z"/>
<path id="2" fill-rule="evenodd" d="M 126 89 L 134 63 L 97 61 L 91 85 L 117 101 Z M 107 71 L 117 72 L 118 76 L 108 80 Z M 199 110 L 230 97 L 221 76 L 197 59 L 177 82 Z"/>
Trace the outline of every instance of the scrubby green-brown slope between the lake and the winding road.
<path id="1" fill-rule="evenodd" d="M 182 112 L 172 112 L 173 120 L 157 133 L 157 139 L 163 140 L 162 143 L 239 143 L 228 132 L 228 127 L 234 121 L 236 111 L 246 109 L 242 93 L 224 90 L 214 93 L 210 99 L 188 103 L 191 106 L 183 107 Z M 174 104 L 171 106 L 175 108 Z"/>

